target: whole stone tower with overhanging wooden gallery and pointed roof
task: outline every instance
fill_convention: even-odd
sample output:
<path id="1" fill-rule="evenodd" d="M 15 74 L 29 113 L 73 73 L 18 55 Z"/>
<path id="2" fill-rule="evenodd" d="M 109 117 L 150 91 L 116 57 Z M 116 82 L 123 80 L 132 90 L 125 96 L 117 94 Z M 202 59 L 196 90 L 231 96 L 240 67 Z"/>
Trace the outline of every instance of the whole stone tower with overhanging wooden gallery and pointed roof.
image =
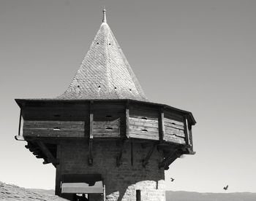
<path id="1" fill-rule="evenodd" d="M 52 99 L 16 99 L 17 140 L 56 167 L 56 194 L 72 200 L 163 201 L 165 170 L 195 154 L 183 111 L 146 98 L 103 11 L 94 41 L 67 90 Z"/>

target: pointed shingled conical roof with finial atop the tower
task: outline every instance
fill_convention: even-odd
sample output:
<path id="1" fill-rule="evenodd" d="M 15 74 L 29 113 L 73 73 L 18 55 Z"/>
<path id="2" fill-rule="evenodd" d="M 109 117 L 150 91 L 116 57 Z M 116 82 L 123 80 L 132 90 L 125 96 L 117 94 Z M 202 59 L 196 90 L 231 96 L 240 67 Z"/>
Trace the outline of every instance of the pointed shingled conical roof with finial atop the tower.
<path id="1" fill-rule="evenodd" d="M 104 17 L 75 77 L 58 99 L 133 99 L 147 101 Z"/>

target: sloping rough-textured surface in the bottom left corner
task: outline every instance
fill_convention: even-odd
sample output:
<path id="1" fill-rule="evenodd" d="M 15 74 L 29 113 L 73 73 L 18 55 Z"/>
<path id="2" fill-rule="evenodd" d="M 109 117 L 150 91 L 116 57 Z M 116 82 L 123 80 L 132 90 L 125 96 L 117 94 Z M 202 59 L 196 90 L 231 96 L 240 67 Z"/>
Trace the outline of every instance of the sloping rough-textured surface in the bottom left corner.
<path id="1" fill-rule="evenodd" d="M 0 181 L 0 200 L 36 200 L 36 201 L 65 201 L 65 199 L 51 195 L 40 193 L 39 190 L 35 189 L 24 189 L 19 186 L 4 184 Z M 67 201 L 67 200 L 66 200 Z"/>

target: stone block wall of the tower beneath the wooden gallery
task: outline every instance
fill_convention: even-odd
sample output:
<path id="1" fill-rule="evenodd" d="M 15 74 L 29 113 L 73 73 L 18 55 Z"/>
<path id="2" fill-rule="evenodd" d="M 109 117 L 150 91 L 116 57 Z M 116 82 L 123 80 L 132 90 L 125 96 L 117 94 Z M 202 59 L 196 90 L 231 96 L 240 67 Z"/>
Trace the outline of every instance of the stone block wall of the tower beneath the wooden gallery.
<path id="1" fill-rule="evenodd" d="M 115 141 L 93 143 L 93 165 L 88 165 L 88 145 L 85 141 L 61 143 L 61 174 L 102 174 L 106 186 L 107 201 L 135 201 L 136 189 L 141 191 L 141 200 L 165 200 L 165 173 L 158 168 L 162 154 L 154 150 L 146 167 L 142 160 L 152 144 L 143 147 L 140 143 L 124 143 L 122 163 L 116 166 L 119 146 Z M 133 154 L 132 154 L 133 153 Z M 132 159 L 133 158 L 133 159 Z"/>

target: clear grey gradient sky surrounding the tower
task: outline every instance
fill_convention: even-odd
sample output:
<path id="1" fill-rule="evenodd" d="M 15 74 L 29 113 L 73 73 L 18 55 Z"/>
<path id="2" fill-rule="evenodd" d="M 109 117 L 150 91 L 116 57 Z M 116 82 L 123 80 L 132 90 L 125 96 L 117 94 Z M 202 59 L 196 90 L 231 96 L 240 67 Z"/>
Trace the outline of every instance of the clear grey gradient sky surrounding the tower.
<path id="1" fill-rule="evenodd" d="M 197 153 L 170 165 L 166 189 L 256 192 L 254 0 L 0 0 L 0 181 L 54 189 L 53 165 L 15 141 L 14 99 L 66 90 L 103 6 L 148 98 L 197 120 Z"/>

